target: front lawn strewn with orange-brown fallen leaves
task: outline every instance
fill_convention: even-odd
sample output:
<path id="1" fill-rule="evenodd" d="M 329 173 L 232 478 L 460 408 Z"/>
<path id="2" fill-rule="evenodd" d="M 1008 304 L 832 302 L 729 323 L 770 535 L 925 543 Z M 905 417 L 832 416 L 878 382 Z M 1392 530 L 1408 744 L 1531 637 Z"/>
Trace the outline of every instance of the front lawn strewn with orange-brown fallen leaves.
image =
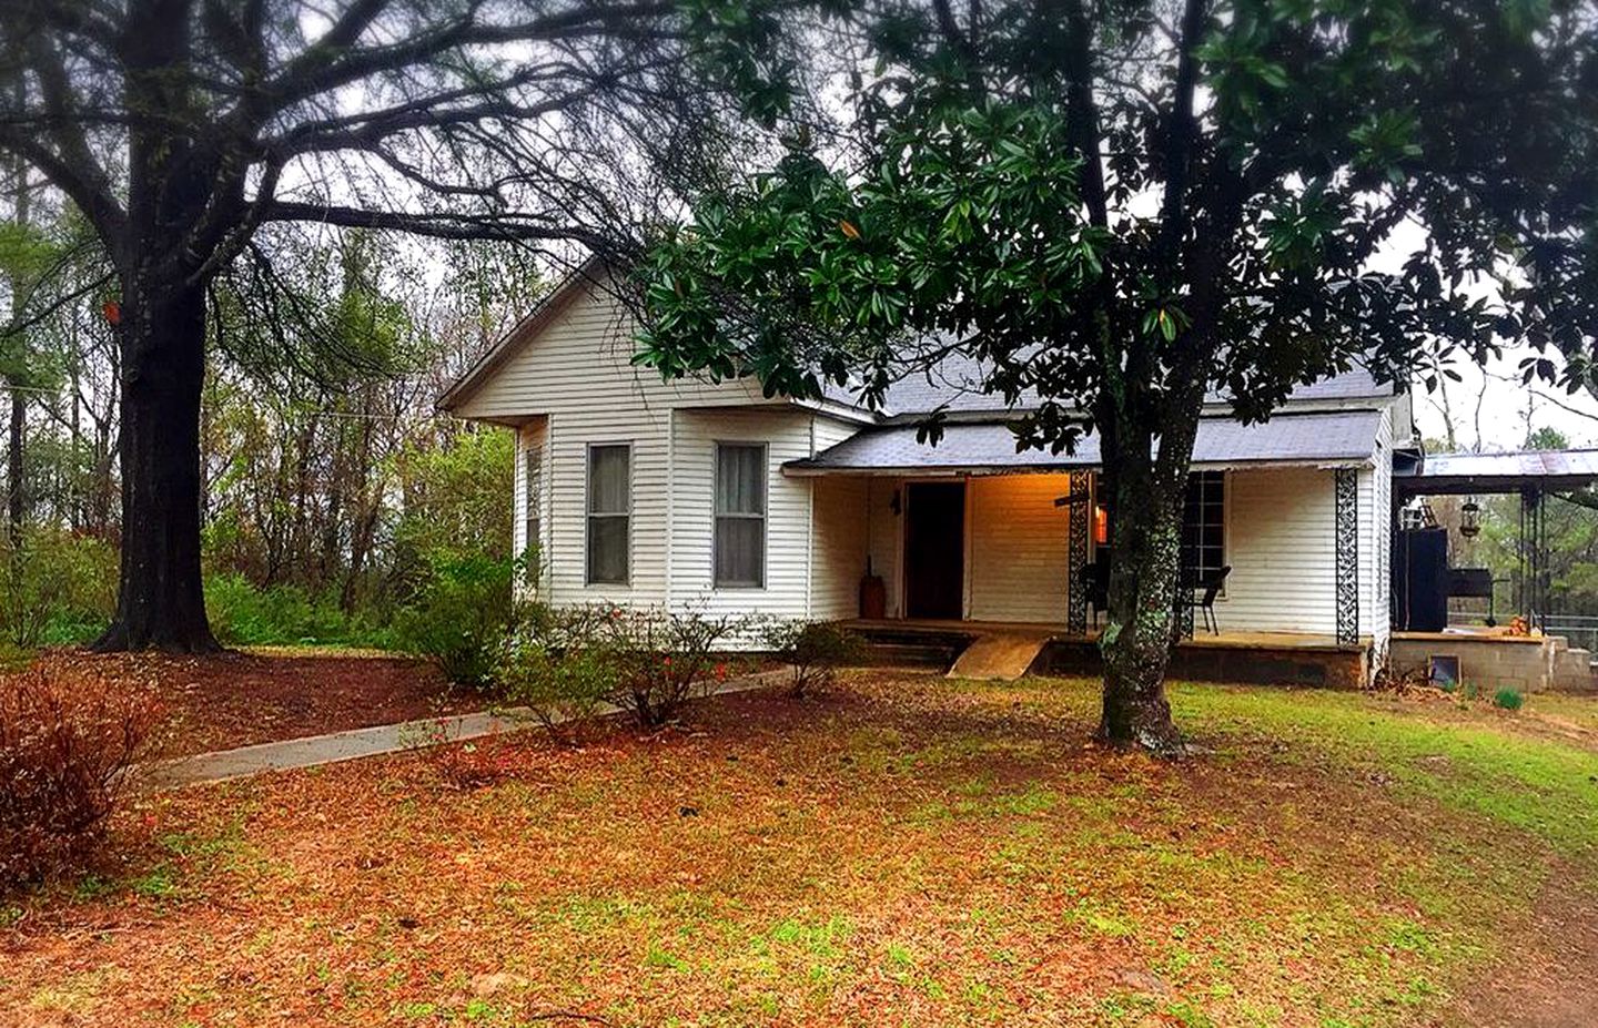
<path id="1" fill-rule="evenodd" d="M 1160 763 L 1095 690 L 861 672 L 149 797 L 0 908 L 0 1023 L 1592 1023 L 1598 702 L 1175 686 Z"/>

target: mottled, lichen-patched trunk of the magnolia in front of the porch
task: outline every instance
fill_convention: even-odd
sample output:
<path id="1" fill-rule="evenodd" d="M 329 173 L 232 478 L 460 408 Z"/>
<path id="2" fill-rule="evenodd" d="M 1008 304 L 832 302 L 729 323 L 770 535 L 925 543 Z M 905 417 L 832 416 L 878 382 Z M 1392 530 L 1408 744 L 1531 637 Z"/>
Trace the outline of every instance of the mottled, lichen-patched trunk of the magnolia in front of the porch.
<path id="1" fill-rule="evenodd" d="M 1181 575 L 1181 490 L 1159 487 L 1146 469 L 1119 476 L 1109 623 L 1099 639 L 1104 656 L 1099 737 L 1157 753 L 1181 750 L 1181 734 L 1165 699 Z"/>

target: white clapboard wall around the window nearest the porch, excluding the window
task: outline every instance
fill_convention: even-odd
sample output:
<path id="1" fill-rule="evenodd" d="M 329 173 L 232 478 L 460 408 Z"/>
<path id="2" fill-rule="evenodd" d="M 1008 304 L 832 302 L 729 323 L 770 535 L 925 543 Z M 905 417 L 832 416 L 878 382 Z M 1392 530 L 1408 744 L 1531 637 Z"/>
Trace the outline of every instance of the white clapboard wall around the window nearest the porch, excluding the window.
<path id="1" fill-rule="evenodd" d="M 711 615 L 809 616 L 810 480 L 785 461 L 810 455 L 812 415 L 799 407 L 678 410 L 671 433 L 671 605 Z M 716 444 L 765 445 L 765 584 L 718 589 Z"/>

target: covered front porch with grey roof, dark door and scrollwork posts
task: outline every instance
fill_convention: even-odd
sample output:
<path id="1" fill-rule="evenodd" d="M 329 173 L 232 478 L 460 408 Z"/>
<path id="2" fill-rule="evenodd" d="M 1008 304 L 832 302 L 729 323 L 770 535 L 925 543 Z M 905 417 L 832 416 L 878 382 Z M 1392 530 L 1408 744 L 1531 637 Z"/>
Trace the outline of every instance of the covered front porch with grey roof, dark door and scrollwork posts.
<path id="1" fill-rule="evenodd" d="M 1369 646 L 1384 637 L 1382 418 L 1200 428 L 1183 562 L 1191 581 L 1219 584 L 1208 618 L 1184 611 L 1195 642 Z M 1103 618 L 1114 546 L 1096 458 L 1088 445 L 1016 453 L 1002 425 L 952 425 L 936 447 L 911 428 L 880 429 L 783 472 L 812 484 L 813 563 L 839 616 L 1058 626 L 1087 640 Z"/>

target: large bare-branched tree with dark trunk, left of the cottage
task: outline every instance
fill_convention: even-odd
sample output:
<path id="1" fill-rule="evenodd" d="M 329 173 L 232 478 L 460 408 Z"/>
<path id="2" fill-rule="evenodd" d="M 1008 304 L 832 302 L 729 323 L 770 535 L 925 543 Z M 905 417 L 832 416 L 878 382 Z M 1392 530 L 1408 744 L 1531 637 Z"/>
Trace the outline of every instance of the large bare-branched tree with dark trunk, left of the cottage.
<path id="1" fill-rule="evenodd" d="M 213 284 L 278 222 L 609 247 L 738 152 L 700 70 L 767 109 L 764 5 L 719 0 L 21 0 L 0 152 L 113 268 L 121 579 L 102 648 L 216 646 L 200 579 Z M 756 46 L 759 45 L 759 46 Z M 213 311 L 214 313 L 214 311 Z"/>

